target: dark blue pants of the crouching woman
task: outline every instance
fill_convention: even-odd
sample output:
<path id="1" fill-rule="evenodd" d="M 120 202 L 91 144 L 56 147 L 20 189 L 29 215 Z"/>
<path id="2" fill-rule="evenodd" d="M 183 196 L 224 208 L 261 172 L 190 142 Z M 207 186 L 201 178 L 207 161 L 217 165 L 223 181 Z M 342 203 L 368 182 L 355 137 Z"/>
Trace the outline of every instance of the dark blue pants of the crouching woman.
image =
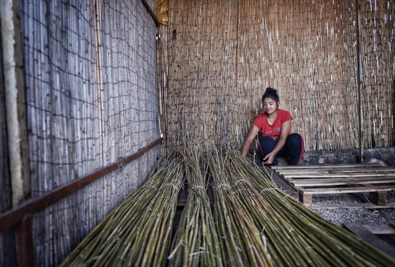
<path id="1" fill-rule="evenodd" d="M 264 155 L 269 154 L 275 148 L 277 141 L 267 136 L 261 136 L 259 143 Z M 271 165 L 277 164 L 277 157 L 289 158 L 289 165 L 298 165 L 304 153 L 304 141 L 300 134 L 289 134 L 285 145 L 278 151 L 275 160 Z"/>

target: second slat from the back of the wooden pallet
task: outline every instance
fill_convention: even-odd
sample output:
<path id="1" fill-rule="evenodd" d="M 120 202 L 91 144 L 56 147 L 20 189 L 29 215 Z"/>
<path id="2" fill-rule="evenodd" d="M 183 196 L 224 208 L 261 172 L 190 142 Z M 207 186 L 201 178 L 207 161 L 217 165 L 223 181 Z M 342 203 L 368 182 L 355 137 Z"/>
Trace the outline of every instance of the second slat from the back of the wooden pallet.
<path id="1" fill-rule="evenodd" d="M 393 167 L 364 167 L 364 168 L 317 168 L 317 169 L 281 169 L 276 170 L 281 174 L 308 174 L 308 173 L 349 173 L 349 172 L 385 172 L 385 171 L 395 171 Z"/>

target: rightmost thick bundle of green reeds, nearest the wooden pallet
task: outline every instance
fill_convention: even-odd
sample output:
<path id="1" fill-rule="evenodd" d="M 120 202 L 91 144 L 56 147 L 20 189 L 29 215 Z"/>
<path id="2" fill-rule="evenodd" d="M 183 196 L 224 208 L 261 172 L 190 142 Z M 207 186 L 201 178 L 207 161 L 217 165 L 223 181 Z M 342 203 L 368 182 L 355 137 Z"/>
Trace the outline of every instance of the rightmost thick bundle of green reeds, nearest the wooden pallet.
<path id="1" fill-rule="evenodd" d="M 283 265 L 277 261 L 278 257 L 288 260 L 285 262 L 288 266 L 395 264 L 391 257 L 287 196 L 259 168 L 235 151 L 227 155 L 225 168 L 234 174 L 232 183 L 237 195 L 249 207 L 257 227 L 264 228 L 272 244 L 269 252 L 276 264 Z"/>

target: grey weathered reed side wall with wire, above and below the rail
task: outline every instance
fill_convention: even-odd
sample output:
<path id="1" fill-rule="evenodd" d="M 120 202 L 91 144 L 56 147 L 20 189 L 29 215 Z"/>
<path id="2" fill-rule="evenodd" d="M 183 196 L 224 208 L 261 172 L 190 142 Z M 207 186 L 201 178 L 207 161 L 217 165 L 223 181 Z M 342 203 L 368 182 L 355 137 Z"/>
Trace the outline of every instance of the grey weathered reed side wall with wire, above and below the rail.
<path id="1" fill-rule="evenodd" d="M 157 30 L 141 0 L 22 3 L 29 159 L 36 198 L 160 137 Z M 55 266 L 63 260 L 143 183 L 159 153 L 157 146 L 34 214 L 35 265 Z"/>

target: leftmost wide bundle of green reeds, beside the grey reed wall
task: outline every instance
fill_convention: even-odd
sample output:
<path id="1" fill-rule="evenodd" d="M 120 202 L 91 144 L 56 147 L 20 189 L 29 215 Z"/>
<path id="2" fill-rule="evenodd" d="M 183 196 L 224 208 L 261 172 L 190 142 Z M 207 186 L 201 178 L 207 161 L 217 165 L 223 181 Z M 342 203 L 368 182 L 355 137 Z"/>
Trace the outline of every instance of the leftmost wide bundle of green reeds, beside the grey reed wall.
<path id="1" fill-rule="evenodd" d="M 164 266 L 183 177 L 179 158 L 159 163 L 61 266 Z"/>

